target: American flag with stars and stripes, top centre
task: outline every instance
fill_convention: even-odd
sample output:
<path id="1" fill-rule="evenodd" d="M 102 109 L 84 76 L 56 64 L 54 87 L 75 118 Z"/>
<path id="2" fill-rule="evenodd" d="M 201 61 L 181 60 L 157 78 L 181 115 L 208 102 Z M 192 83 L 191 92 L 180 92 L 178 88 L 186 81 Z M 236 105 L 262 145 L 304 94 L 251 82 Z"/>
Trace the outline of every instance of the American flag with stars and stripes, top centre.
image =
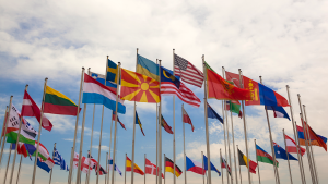
<path id="1" fill-rule="evenodd" d="M 174 72 L 176 76 L 180 76 L 181 81 L 201 87 L 203 82 L 202 72 L 177 54 L 174 54 Z"/>

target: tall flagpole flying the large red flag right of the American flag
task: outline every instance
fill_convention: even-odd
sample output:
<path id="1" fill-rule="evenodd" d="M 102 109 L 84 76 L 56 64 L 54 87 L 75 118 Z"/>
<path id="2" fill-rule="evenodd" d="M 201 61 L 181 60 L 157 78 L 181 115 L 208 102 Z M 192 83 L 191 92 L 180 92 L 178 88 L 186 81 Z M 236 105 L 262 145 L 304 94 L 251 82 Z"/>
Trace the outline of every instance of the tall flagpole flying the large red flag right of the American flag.
<path id="1" fill-rule="evenodd" d="M 202 66 L 203 66 L 203 89 L 204 89 L 204 119 L 206 119 L 206 137 L 207 137 L 207 155 L 208 155 L 208 183 L 212 184 L 211 177 L 211 157 L 210 157 L 210 134 L 209 134 L 209 122 L 208 122 L 208 91 L 207 91 L 207 66 L 204 63 L 204 56 L 202 54 Z"/>

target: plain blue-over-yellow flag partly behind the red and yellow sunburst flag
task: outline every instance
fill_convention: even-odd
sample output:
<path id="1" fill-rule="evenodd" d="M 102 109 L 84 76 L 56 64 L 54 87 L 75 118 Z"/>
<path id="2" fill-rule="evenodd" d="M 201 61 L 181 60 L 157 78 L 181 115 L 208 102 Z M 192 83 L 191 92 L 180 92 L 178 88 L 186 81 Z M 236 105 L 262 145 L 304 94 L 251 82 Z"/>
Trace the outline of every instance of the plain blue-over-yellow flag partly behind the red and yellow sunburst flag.
<path id="1" fill-rule="evenodd" d="M 153 61 L 137 54 L 137 73 L 160 81 L 159 64 Z"/>

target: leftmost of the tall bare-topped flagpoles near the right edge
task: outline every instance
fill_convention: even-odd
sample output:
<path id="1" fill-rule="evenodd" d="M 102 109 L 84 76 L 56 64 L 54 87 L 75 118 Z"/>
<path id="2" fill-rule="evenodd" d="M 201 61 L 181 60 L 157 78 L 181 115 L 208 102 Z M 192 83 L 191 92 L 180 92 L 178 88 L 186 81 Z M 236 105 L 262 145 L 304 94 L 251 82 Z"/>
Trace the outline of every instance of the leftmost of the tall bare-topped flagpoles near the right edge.
<path id="1" fill-rule="evenodd" d="M 294 113 L 293 113 L 292 100 L 291 100 L 291 96 L 290 96 L 290 86 L 286 85 L 285 87 L 286 87 L 286 91 L 288 91 L 288 96 L 289 96 L 289 103 L 290 103 L 290 110 L 291 110 L 291 116 L 292 116 L 294 139 L 295 139 L 296 145 L 297 145 L 297 158 L 298 158 L 300 174 L 301 174 L 301 179 L 302 179 L 302 184 L 306 184 L 304 169 L 303 169 L 303 159 L 302 159 L 302 156 L 300 155 L 301 150 L 300 150 L 298 135 L 297 135 L 297 131 L 296 131 L 296 127 L 295 127 L 295 124 L 294 124 Z M 301 162 L 300 162 L 300 160 L 301 160 Z"/>

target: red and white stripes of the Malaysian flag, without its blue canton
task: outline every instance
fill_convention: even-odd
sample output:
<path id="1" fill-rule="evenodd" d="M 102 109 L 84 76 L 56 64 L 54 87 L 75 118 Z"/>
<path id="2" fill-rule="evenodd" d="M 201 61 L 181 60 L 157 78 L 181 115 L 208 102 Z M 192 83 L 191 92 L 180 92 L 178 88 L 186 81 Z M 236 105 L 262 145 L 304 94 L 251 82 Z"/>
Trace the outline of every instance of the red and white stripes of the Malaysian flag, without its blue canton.
<path id="1" fill-rule="evenodd" d="M 180 100 L 195 107 L 200 106 L 200 99 L 181 82 L 178 89 L 173 83 L 162 82 L 161 94 L 163 95 L 176 95 Z"/>

